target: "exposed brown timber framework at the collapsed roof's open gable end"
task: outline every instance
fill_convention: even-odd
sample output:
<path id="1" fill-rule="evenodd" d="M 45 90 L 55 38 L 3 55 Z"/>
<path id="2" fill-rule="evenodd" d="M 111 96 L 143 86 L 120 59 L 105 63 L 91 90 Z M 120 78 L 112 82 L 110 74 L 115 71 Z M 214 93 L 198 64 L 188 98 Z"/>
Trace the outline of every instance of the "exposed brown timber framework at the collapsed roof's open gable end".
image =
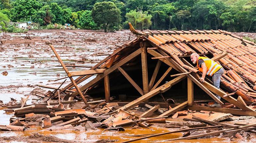
<path id="1" fill-rule="evenodd" d="M 120 54 L 122 50 L 127 48 L 127 46 L 139 44 L 139 48 L 133 47 L 131 49 L 131 53 L 128 54 Z M 221 89 L 215 88 L 211 83 L 204 81 L 204 83 L 200 83 L 198 81 L 198 73 L 191 72 L 197 71 L 194 69 L 194 67 L 186 61 L 183 57 L 179 58 L 177 55 L 173 53 L 169 53 L 168 51 L 165 51 L 162 49 L 161 46 L 156 45 L 154 42 L 150 41 L 146 37 L 142 37 L 140 39 L 136 39 L 128 43 L 127 45 L 124 45 L 117 50 L 114 51 L 114 53 L 107 56 L 105 59 L 103 59 L 101 62 L 93 66 L 90 70 L 83 70 L 83 71 L 76 71 L 76 72 L 69 72 L 65 65 L 63 64 L 61 58 L 56 53 L 53 46 L 50 45 L 52 50 L 54 51 L 56 57 L 60 61 L 61 65 L 63 66 L 65 72 L 67 73 L 69 79 L 71 80 L 71 83 L 60 90 L 60 93 L 75 87 L 76 91 L 72 92 L 70 97 L 75 97 L 77 95 L 80 95 L 83 99 L 84 103 L 87 104 L 86 99 L 84 98 L 82 92 L 86 89 L 89 89 L 90 87 L 93 87 L 97 82 L 103 79 L 104 81 L 104 91 L 105 91 L 105 98 L 106 102 L 110 102 L 110 79 L 109 74 L 111 74 L 114 71 L 119 71 L 129 82 L 130 84 L 142 95 L 141 97 L 137 98 L 136 100 L 129 102 L 128 104 L 121 107 L 121 110 L 128 110 L 136 105 L 139 105 L 142 102 L 147 102 L 147 100 L 154 95 L 157 95 L 161 92 L 165 92 L 169 90 L 173 85 L 176 83 L 187 79 L 188 81 L 188 99 L 186 102 L 181 103 L 180 105 L 172 108 L 171 110 L 162 113 L 159 115 L 159 117 L 163 116 L 170 116 L 171 114 L 177 112 L 180 109 L 183 109 L 185 107 L 188 107 L 191 110 L 205 110 L 205 111 L 215 111 L 215 112 L 224 112 L 224 113 L 231 113 L 236 115 L 250 115 L 250 116 L 256 116 L 255 112 L 246 106 L 246 104 L 243 104 L 242 102 L 239 102 L 232 96 L 224 96 L 226 93 L 222 91 Z M 153 47 L 153 48 L 152 48 Z M 148 78 L 148 62 L 147 62 L 147 56 L 152 55 L 155 57 L 154 59 L 158 60 L 153 75 L 150 78 Z M 124 64 L 127 64 L 130 60 L 134 59 L 135 57 L 141 55 L 141 67 L 142 67 L 142 82 L 143 82 L 143 88 L 141 89 L 138 84 L 127 74 L 127 72 L 122 68 Z M 171 55 L 171 56 L 170 56 Z M 226 53 L 219 54 L 218 56 L 215 56 L 213 58 L 214 61 L 219 60 L 223 56 L 225 56 Z M 159 58 L 161 57 L 161 58 Z M 102 65 L 105 63 L 104 65 Z M 158 75 L 159 68 L 161 64 L 166 64 L 169 66 L 169 68 L 165 71 L 165 73 L 161 76 L 161 78 L 156 81 L 156 77 Z M 101 66 L 99 68 L 99 66 Z M 169 74 L 169 72 L 175 69 L 180 74 L 176 75 L 177 77 L 173 80 L 163 84 L 160 86 L 162 81 L 166 78 L 166 76 Z M 190 69 L 190 70 L 188 70 Z M 97 75 L 94 79 L 89 81 L 87 84 L 83 85 L 82 87 L 78 88 L 77 84 L 81 83 L 82 81 L 88 79 L 89 77 L 93 75 Z M 76 80 L 73 80 L 73 76 L 79 76 Z M 196 84 L 198 87 L 200 87 L 203 91 L 205 91 L 213 100 L 218 102 L 220 105 L 223 105 L 224 103 L 220 101 L 214 94 L 219 95 L 226 101 L 230 102 L 231 104 L 235 105 L 239 109 L 228 109 L 228 108 L 210 108 L 210 107 L 203 107 L 203 106 L 194 106 L 194 99 L 193 99 L 193 84 Z M 159 107 L 158 107 L 159 108 Z M 157 110 L 156 108 L 155 110 Z M 119 110 L 119 109 L 118 109 Z M 106 115 L 111 115 L 114 113 L 117 113 L 118 111 L 113 111 L 111 113 L 108 113 Z"/>

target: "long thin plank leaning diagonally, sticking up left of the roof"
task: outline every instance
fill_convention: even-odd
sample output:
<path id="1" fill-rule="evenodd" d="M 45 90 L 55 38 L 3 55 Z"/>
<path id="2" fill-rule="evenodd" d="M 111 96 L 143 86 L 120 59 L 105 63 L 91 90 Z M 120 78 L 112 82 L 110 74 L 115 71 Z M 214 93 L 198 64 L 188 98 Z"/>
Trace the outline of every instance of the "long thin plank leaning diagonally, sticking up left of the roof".
<path id="1" fill-rule="evenodd" d="M 64 71 L 65 71 L 66 74 L 68 75 L 69 72 L 68 72 L 67 68 L 65 67 L 65 65 L 64 65 L 64 63 L 63 63 L 61 57 L 60 57 L 59 54 L 56 52 L 56 50 L 54 49 L 53 45 L 50 45 L 50 44 L 49 44 L 49 46 L 50 46 L 51 49 L 53 50 L 53 52 L 54 52 L 54 54 L 56 55 L 57 59 L 58 59 L 59 62 L 61 63 L 61 65 L 62 65 Z M 81 96 L 81 98 L 82 98 L 84 104 L 86 104 L 88 107 L 90 107 L 90 105 L 87 103 L 86 98 L 83 96 L 81 90 L 80 90 L 80 89 L 78 88 L 78 86 L 76 85 L 74 79 L 73 79 L 72 77 L 69 77 L 69 79 L 70 79 L 70 81 L 72 82 L 72 84 L 73 84 L 73 86 L 75 87 L 75 89 L 76 89 L 76 91 L 78 92 L 78 94 Z"/>

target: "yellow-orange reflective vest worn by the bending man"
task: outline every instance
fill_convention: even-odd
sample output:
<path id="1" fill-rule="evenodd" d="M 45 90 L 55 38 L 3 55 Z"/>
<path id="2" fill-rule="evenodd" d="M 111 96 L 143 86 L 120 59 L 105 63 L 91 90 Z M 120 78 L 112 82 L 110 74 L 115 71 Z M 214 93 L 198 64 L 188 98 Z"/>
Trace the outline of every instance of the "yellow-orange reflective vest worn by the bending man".
<path id="1" fill-rule="evenodd" d="M 208 75 L 208 76 L 212 76 L 215 72 L 217 72 L 221 68 L 221 65 L 219 65 L 218 63 L 216 63 L 215 61 L 213 61 L 207 57 L 200 56 L 200 57 L 198 57 L 198 60 L 199 59 L 202 59 L 204 61 L 206 68 L 207 68 L 206 75 Z M 198 60 L 196 62 L 196 66 L 197 66 L 198 70 L 202 73 L 203 68 L 199 67 Z"/>

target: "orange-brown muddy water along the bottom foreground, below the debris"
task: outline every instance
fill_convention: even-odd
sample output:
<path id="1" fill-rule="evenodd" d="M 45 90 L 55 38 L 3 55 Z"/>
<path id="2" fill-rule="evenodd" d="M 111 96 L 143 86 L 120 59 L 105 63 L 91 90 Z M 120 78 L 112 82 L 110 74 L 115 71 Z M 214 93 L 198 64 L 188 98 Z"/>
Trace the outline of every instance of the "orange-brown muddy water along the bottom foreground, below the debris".
<path id="1" fill-rule="evenodd" d="M 23 132 L 3 132 L 0 133 L 1 136 L 29 136 L 30 134 L 34 132 L 39 132 L 43 135 L 53 135 L 55 137 L 61 138 L 61 139 L 67 139 L 67 140 L 76 140 L 79 142 L 85 142 L 85 143 L 91 143 L 95 142 L 100 139 L 110 139 L 110 140 L 118 140 L 117 142 L 123 142 L 128 141 L 131 139 L 136 139 L 139 137 L 133 137 L 129 135 L 136 135 L 136 134 L 153 134 L 153 133 L 163 133 L 170 131 L 166 128 L 156 128 L 152 127 L 151 129 L 129 129 L 129 127 L 126 128 L 125 131 L 104 131 L 103 129 L 97 129 L 96 131 L 74 131 L 74 130 L 62 130 L 62 131 L 40 131 L 40 129 L 35 130 L 28 130 Z M 178 138 L 181 137 L 181 133 L 173 133 L 168 135 L 163 135 L 159 137 L 152 137 L 148 139 L 143 139 L 140 141 L 135 141 L 134 143 L 160 143 L 162 140 L 172 139 L 172 138 Z M 254 140 L 256 141 L 256 140 Z M 230 141 L 223 138 L 207 138 L 207 139 L 192 139 L 192 140 L 180 140 L 180 141 L 167 141 L 168 143 L 238 143 L 241 141 Z M 243 141 L 242 141 L 243 142 Z M 246 142 L 246 141 L 244 141 Z M 250 142 L 253 142 L 253 140 L 250 140 Z M 44 143 L 50 143 L 50 142 L 44 142 Z"/>

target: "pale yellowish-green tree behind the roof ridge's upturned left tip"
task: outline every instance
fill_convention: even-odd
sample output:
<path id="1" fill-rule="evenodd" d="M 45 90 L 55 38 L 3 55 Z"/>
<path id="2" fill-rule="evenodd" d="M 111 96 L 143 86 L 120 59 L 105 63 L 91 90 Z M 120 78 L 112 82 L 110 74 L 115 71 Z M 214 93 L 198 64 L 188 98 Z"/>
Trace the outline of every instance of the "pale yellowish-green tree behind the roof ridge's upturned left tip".
<path id="1" fill-rule="evenodd" d="M 137 29 L 143 30 L 148 29 L 152 22 L 150 21 L 152 15 L 149 15 L 147 11 L 139 10 L 136 12 L 135 10 L 131 10 L 129 13 L 125 15 L 126 22 L 131 22 L 133 26 Z"/>

